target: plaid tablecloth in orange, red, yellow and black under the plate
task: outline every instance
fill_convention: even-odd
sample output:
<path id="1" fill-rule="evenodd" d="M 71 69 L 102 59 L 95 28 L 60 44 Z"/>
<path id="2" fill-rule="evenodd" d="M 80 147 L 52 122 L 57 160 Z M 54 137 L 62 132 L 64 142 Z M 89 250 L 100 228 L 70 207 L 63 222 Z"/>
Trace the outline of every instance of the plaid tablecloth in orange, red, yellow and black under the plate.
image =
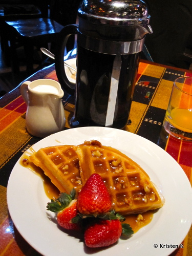
<path id="1" fill-rule="evenodd" d="M 192 77 L 190 71 L 140 62 L 130 113 L 132 123 L 125 130 L 162 147 L 181 165 L 192 184 L 192 142 L 168 136 L 162 128 L 173 81 L 184 75 Z M 28 80 L 40 78 L 57 80 L 54 66 L 37 72 Z M 63 106 L 67 119 L 66 129 L 69 129 L 69 120 L 74 112 L 74 97 L 65 93 Z M 31 145 L 40 140 L 26 132 L 26 109 L 19 87 L 0 99 L 0 256 L 40 255 L 14 227 L 6 201 L 7 183 L 14 164 Z M 172 255 L 192 255 L 192 228 L 183 244 L 184 248 L 177 249 Z"/>

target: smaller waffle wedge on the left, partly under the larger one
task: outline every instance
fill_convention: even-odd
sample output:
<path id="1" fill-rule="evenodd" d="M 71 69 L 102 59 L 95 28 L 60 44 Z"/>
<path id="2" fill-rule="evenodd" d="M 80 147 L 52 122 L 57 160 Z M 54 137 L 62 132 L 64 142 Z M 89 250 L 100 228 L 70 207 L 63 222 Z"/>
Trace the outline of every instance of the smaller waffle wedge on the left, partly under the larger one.
<path id="1" fill-rule="evenodd" d="M 30 156 L 36 166 L 44 170 L 51 182 L 60 192 L 70 194 L 74 187 L 77 193 L 81 189 L 79 160 L 76 146 L 61 145 L 41 148 Z"/>

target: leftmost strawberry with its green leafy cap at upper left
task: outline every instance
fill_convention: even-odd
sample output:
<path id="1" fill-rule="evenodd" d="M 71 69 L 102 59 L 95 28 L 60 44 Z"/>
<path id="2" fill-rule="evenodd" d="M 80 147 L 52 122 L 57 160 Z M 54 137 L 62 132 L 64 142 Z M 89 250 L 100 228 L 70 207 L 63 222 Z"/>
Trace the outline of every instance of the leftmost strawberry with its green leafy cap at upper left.
<path id="1" fill-rule="evenodd" d="M 57 223 L 66 229 L 79 230 L 80 223 L 72 223 L 73 218 L 77 218 L 77 200 L 75 198 L 75 189 L 71 194 L 61 193 L 60 197 L 53 200 L 47 205 L 47 210 L 57 212 Z"/>

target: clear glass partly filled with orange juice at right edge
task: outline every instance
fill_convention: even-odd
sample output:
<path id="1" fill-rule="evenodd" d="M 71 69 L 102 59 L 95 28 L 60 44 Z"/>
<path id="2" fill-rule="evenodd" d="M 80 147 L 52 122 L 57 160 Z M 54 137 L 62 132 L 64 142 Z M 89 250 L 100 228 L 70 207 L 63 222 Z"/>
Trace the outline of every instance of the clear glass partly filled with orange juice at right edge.
<path id="1" fill-rule="evenodd" d="M 192 140 L 192 77 L 174 81 L 163 126 L 179 139 Z"/>

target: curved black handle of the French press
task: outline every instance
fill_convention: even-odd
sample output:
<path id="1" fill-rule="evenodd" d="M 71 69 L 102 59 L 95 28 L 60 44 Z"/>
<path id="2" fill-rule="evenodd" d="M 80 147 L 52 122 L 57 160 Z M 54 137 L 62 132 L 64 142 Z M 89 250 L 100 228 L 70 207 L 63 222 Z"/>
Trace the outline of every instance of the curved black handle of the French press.
<path id="1" fill-rule="evenodd" d="M 61 87 L 65 89 L 69 94 L 75 94 L 75 84 L 69 81 L 67 78 L 64 64 L 63 64 L 63 56 L 65 52 L 65 47 L 67 44 L 67 40 L 70 35 L 77 34 L 78 25 L 67 25 L 60 32 L 58 36 L 58 45 L 57 50 L 55 52 L 55 71 L 59 83 Z"/>

